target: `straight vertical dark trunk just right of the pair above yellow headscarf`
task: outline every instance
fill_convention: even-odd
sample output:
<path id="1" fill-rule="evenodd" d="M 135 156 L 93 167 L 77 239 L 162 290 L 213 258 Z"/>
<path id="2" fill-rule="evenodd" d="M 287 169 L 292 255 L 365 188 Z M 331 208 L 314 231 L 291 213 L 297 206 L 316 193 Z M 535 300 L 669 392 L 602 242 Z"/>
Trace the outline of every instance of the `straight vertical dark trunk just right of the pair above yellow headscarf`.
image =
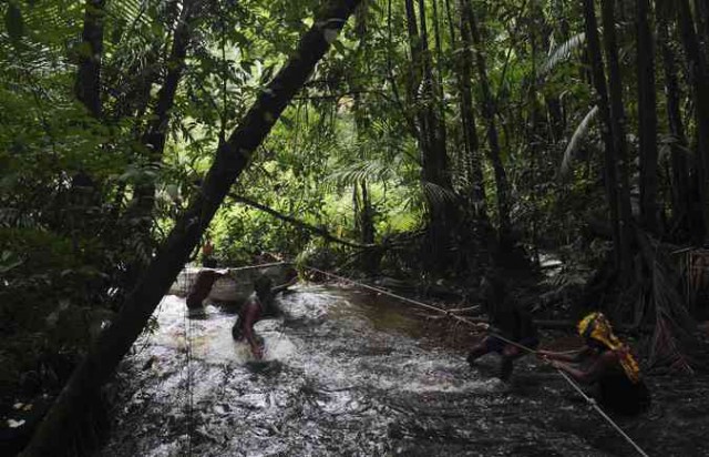
<path id="1" fill-rule="evenodd" d="M 637 0 L 638 120 L 640 139 L 640 214 L 648 231 L 659 228 L 657 205 L 657 98 L 655 43 L 649 0 Z"/>

